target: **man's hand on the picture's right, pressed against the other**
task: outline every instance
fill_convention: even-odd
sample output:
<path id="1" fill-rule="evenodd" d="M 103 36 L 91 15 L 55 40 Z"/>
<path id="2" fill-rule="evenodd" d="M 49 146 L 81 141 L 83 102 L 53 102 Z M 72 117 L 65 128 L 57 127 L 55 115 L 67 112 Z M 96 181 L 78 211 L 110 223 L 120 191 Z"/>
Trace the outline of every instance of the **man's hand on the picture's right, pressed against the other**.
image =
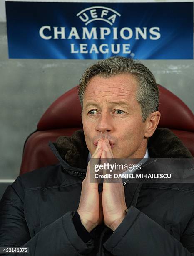
<path id="1" fill-rule="evenodd" d="M 114 158 L 108 139 L 102 142 L 101 159 L 103 158 Z M 125 210 L 127 209 L 122 180 L 119 183 L 106 183 L 106 180 L 104 180 L 102 207 L 104 224 L 114 231 L 124 220 Z"/>

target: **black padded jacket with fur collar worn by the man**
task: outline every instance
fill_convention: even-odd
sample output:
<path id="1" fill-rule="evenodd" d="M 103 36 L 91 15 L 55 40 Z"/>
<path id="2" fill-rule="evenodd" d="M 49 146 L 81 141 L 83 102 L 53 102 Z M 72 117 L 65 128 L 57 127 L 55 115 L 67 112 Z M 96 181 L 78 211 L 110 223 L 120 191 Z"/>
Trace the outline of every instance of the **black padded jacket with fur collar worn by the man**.
<path id="1" fill-rule="evenodd" d="M 88 150 L 83 131 L 50 144 L 60 164 L 23 174 L 0 202 L 0 246 L 35 256 L 193 256 L 194 185 L 126 184 L 129 211 L 113 233 L 104 226 L 85 243 L 72 217 L 78 208 Z M 151 158 L 192 157 L 168 129 L 149 139 Z M 13 255 L 13 254 L 11 254 Z"/>

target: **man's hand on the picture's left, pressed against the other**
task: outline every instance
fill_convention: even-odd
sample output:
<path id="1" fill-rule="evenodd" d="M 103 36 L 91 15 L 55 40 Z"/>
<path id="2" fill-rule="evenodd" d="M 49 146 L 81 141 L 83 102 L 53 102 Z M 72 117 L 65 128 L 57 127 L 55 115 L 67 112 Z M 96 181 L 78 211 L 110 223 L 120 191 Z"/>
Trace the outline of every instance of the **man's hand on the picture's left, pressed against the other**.
<path id="1" fill-rule="evenodd" d="M 98 141 L 97 148 L 91 158 L 99 159 L 102 154 L 102 140 Z M 102 223 L 102 193 L 99 195 L 98 183 L 90 183 L 90 162 L 87 166 L 86 177 L 82 182 L 80 204 L 77 209 L 80 220 L 86 230 L 90 232 L 97 225 Z"/>

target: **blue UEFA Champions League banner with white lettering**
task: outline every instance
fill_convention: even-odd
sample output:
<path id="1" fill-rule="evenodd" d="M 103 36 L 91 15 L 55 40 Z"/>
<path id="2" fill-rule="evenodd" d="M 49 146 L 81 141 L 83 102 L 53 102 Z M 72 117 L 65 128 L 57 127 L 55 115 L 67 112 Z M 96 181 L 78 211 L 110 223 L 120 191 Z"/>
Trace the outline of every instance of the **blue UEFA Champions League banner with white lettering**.
<path id="1" fill-rule="evenodd" d="M 9 58 L 193 59 L 193 3 L 6 2 Z"/>

